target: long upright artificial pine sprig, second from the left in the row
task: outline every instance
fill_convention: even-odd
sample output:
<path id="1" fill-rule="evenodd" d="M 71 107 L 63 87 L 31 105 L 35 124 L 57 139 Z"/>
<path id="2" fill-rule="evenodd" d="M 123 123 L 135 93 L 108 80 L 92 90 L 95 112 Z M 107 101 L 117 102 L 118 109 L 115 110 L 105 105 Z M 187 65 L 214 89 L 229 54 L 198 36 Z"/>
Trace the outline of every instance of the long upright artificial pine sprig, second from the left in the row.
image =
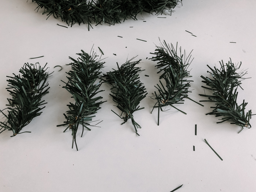
<path id="1" fill-rule="evenodd" d="M 97 110 L 101 109 L 99 105 L 103 103 L 103 101 L 99 101 L 102 99 L 101 96 L 96 95 L 103 90 L 99 90 L 101 86 L 101 81 L 96 83 L 96 80 L 101 76 L 100 69 L 103 68 L 103 64 L 105 62 L 101 62 L 96 55 L 96 53 L 85 53 L 81 50 L 82 53 L 77 53 L 80 57 L 75 60 L 71 57 L 73 63 L 71 63 L 72 70 L 67 72 L 69 75 L 68 82 L 63 87 L 69 93 L 71 93 L 72 97 L 75 99 L 75 103 L 69 103 L 69 110 L 64 114 L 66 121 L 64 124 L 57 125 L 68 125 L 68 127 L 64 130 L 64 132 L 69 128 L 72 130 L 72 148 L 74 146 L 74 142 L 76 144 L 76 133 L 78 131 L 79 124 L 91 131 L 89 126 L 91 125 L 90 121 L 95 117 L 95 113 Z M 64 81 L 62 81 L 64 82 Z M 64 82 L 65 83 L 65 82 Z M 105 102 L 105 101 L 104 101 Z M 83 136 L 83 132 L 81 137 Z M 78 150 L 76 144 L 76 150 Z"/>

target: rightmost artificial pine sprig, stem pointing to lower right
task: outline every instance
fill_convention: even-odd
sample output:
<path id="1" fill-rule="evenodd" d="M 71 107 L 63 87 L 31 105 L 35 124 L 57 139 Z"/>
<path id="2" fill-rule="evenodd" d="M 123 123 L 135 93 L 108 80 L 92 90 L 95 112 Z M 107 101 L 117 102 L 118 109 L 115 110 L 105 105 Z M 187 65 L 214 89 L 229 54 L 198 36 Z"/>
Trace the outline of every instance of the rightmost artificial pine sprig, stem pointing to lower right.
<path id="1" fill-rule="evenodd" d="M 225 121 L 231 121 L 231 124 L 236 124 L 242 127 L 251 128 L 249 123 L 252 111 L 249 110 L 245 113 L 245 106 L 247 103 L 243 101 L 241 105 L 237 104 L 237 88 L 241 84 L 241 80 L 245 79 L 243 76 L 247 72 L 237 72 L 241 64 L 234 65 L 231 59 L 228 63 L 224 64 L 223 61 L 219 62 L 221 64 L 221 69 L 214 67 L 208 67 L 211 71 L 207 71 L 211 74 L 211 78 L 201 76 L 203 78 L 203 83 L 206 83 L 208 87 L 202 86 L 204 89 L 212 90 L 214 93 L 212 95 L 199 94 L 203 97 L 208 97 L 208 102 L 214 102 L 215 106 L 212 112 L 207 114 L 213 114 L 216 117 L 224 116 L 221 118 L 222 121 L 217 123 L 222 123 Z"/>

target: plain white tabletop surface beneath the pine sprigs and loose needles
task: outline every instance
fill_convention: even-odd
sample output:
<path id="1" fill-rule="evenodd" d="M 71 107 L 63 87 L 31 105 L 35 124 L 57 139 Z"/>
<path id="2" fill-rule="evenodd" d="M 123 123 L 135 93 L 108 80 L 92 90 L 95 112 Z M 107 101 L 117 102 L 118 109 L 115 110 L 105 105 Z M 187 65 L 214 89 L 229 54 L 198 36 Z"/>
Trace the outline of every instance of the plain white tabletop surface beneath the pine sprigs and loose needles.
<path id="1" fill-rule="evenodd" d="M 65 23 L 53 16 L 46 20 L 41 9 L 34 11 L 36 7 L 30 0 L 0 1 L 0 108 L 4 109 L 6 98 L 10 98 L 5 90 L 6 76 L 18 74 L 24 63 L 48 63 L 49 72 L 54 71 L 49 78 L 50 93 L 44 97 L 46 108 L 23 129 L 32 132 L 12 138 L 11 131 L 0 134 L 1 192 L 169 192 L 181 184 L 178 192 L 256 191 L 255 116 L 250 121 L 252 128 L 237 134 L 240 127 L 216 124 L 218 118 L 205 115 L 211 110 L 209 103 L 202 107 L 187 99 L 178 106 L 187 115 L 174 109 L 162 112 L 157 126 L 157 110 L 150 114 L 155 101 L 147 97 L 141 102 L 145 109 L 134 113 L 142 127 L 137 136 L 131 121 L 121 125 L 123 121 L 110 111 L 119 113 L 109 95 L 110 86 L 104 84 L 102 96 L 108 102 L 94 118 L 103 122 L 100 128 L 85 131 L 83 138 L 79 137 L 80 129 L 79 151 L 71 149 L 71 131 L 63 133 L 65 127 L 56 127 L 65 120 L 63 113 L 72 101 L 60 81 L 66 81 L 65 72 L 70 70 L 65 65 L 71 62 L 69 56 L 76 57 L 81 49 L 90 52 L 93 45 L 100 54 L 100 47 L 107 57 L 103 72 L 108 72 L 116 68 L 116 62 L 123 64 L 127 57 L 138 55 L 140 66 L 146 69 L 141 81 L 151 96 L 159 75 L 156 63 L 146 57 L 151 57 L 154 44 L 159 45 L 158 37 L 168 43 L 178 42 L 187 53 L 193 49 L 194 90 L 189 96 L 196 101 L 202 100 L 198 95 L 203 93 L 200 76 L 207 75 L 207 64 L 219 67 L 218 61 L 226 63 L 229 57 L 234 63 L 242 61 L 242 68 L 248 68 L 246 77 L 252 78 L 243 82 L 238 100 L 241 103 L 245 99 L 249 103 L 246 110 L 255 114 L 256 1 L 184 0 L 183 6 L 177 5 L 166 18 L 138 15 L 137 21 L 98 25 L 90 31 L 87 25 L 57 26 Z M 63 66 L 63 70 L 58 72 L 55 65 Z"/>

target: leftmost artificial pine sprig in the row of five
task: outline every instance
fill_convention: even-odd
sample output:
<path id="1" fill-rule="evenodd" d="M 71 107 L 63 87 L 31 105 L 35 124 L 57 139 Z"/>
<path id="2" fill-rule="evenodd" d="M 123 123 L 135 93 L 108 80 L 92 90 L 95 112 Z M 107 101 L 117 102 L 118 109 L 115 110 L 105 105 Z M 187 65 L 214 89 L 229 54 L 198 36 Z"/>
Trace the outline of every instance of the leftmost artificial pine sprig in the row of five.
<path id="1" fill-rule="evenodd" d="M 47 82 L 50 74 L 46 72 L 48 68 L 45 67 L 46 65 L 42 68 L 39 63 L 35 65 L 25 63 L 19 70 L 21 75 L 7 76 L 10 79 L 7 80 L 9 83 L 6 89 L 10 92 L 12 99 L 8 99 L 10 103 L 10 107 L 7 108 L 8 114 L 1 111 L 6 120 L 0 122 L 0 127 L 12 131 L 13 136 L 19 134 L 22 128 L 34 117 L 39 116 L 42 113 L 39 111 L 45 108 L 45 106 L 39 107 L 45 104 L 41 99 L 49 93 L 50 88 Z"/>

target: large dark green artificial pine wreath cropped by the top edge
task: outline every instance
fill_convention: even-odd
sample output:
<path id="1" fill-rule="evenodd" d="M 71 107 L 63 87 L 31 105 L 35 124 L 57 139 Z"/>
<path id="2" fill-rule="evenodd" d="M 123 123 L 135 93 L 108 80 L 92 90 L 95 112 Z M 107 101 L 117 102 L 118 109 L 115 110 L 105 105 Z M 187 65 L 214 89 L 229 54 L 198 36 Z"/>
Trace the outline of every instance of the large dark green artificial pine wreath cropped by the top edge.
<path id="1" fill-rule="evenodd" d="M 121 20 L 132 18 L 142 11 L 162 14 L 173 9 L 178 0 L 32 0 L 39 8 L 44 8 L 43 14 L 61 18 L 67 25 L 78 23 L 108 23 L 113 25 Z"/>

